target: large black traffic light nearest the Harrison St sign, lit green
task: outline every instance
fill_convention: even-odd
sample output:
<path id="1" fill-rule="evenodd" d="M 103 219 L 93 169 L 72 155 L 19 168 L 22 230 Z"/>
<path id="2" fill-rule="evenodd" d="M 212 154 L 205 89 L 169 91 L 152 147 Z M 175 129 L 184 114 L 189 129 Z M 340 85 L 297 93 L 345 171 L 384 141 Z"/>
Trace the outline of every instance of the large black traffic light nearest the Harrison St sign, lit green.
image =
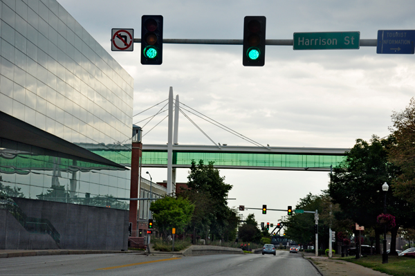
<path id="1" fill-rule="evenodd" d="M 265 29 L 266 17 L 243 19 L 243 66 L 264 66 Z"/>

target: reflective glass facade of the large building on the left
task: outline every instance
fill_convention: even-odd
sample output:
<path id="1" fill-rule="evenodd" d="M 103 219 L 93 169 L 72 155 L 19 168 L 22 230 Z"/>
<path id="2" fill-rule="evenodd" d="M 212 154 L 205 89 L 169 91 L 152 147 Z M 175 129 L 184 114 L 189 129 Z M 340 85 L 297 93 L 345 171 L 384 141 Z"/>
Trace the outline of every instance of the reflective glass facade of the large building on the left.
<path id="1" fill-rule="evenodd" d="M 55 0 L 0 15 L 0 195 L 128 209 L 133 78 Z"/>

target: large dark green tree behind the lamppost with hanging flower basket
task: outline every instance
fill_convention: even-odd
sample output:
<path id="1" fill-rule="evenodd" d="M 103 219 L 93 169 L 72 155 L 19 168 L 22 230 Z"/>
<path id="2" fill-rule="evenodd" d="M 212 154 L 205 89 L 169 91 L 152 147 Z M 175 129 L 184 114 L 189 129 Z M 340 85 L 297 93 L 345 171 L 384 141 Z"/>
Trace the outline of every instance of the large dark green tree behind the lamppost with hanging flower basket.
<path id="1" fill-rule="evenodd" d="M 345 218 L 360 226 L 374 228 L 376 252 L 380 253 L 380 234 L 383 228 L 376 218 L 383 212 L 385 194 L 382 183 L 391 183 L 398 175 L 398 167 L 388 162 L 387 149 L 393 145 L 393 137 L 380 139 L 372 136 L 370 142 L 358 139 L 347 153 L 346 159 L 334 168 L 329 184 L 333 203 L 340 204 Z M 394 187 L 387 194 L 387 210 L 396 217 L 396 227 L 391 229 L 391 252 L 395 251 L 398 228 L 409 222 L 412 215 L 405 214 L 405 202 L 394 194 Z"/>

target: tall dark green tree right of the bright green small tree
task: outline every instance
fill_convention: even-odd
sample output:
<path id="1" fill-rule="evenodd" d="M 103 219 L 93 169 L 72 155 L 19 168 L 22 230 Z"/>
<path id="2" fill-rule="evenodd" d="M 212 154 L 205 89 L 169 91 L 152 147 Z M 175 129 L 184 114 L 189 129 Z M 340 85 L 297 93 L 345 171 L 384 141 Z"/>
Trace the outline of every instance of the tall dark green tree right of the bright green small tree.
<path id="1" fill-rule="evenodd" d="M 195 218 L 195 221 L 209 223 L 212 238 L 224 239 L 228 234 L 227 238 L 229 239 L 230 234 L 234 232 L 232 228 L 237 227 L 237 212 L 230 209 L 226 201 L 232 185 L 224 182 L 225 177 L 220 176 L 219 169 L 215 169 L 213 164 L 213 162 L 210 162 L 205 165 L 203 160 L 196 164 L 192 160 L 190 173 L 187 176 L 187 187 L 196 193 L 203 194 L 209 201 L 208 205 L 205 206 L 205 210 L 201 212 L 206 219 L 199 217 L 199 219 Z M 196 197 L 194 196 L 194 198 Z M 201 224 L 199 225 L 201 226 Z M 205 231 L 204 225 L 197 230 Z"/>

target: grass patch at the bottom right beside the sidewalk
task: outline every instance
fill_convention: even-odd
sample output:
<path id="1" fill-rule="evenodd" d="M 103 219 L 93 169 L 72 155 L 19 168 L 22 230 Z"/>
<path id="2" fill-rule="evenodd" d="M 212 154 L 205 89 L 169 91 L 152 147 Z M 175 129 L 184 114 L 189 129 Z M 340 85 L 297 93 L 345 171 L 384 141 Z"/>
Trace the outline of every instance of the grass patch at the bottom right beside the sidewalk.
<path id="1" fill-rule="evenodd" d="M 382 273 L 394 276 L 413 276 L 415 273 L 415 259 L 408 257 L 389 256 L 388 264 L 382 264 L 382 255 L 374 255 L 355 259 L 355 257 L 340 258 L 354 264 L 360 264 Z"/>

